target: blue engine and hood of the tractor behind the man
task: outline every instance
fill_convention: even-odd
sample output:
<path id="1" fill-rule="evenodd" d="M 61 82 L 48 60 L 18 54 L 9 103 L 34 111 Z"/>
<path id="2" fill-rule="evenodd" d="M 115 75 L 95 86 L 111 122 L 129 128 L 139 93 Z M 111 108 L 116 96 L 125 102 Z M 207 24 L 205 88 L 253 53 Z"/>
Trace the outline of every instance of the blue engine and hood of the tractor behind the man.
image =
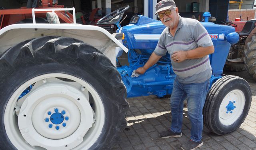
<path id="1" fill-rule="evenodd" d="M 238 41 L 239 36 L 231 26 L 218 25 L 212 22 L 201 23 L 208 31 L 214 44 L 215 52 L 209 57 L 212 66 L 212 80 L 217 80 L 222 76 L 230 46 Z M 128 90 L 128 97 L 152 94 L 163 97 L 172 93 L 176 75 L 172 71 L 170 54 L 163 56 L 145 74 L 137 78 L 131 77 L 132 72 L 136 68 L 143 66 L 147 62 L 151 53 L 156 48 L 164 28 L 166 26 L 158 20 L 136 15 L 131 18 L 129 25 L 118 30 L 118 32 L 125 34 L 125 39 L 122 42 L 124 46 L 129 48 L 129 65 L 118 67 L 118 71 Z"/>

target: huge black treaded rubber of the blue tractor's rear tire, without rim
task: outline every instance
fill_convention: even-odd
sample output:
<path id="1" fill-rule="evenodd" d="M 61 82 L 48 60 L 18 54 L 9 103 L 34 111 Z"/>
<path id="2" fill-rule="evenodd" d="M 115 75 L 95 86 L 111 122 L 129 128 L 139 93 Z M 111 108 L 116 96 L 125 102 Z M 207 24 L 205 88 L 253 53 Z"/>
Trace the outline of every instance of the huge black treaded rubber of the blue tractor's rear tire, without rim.
<path id="1" fill-rule="evenodd" d="M 4 112 L 10 96 L 23 83 L 42 74 L 76 76 L 88 82 L 99 94 L 105 121 L 100 136 L 89 150 L 110 149 L 120 140 L 119 134 L 127 126 L 125 115 L 129 104 L 120 74 L 104 54 L 80 40 L 44 36 L 21 42 L 0 58 L 0 72 L 2 150 L 16 150 L 4 127 Z"/>

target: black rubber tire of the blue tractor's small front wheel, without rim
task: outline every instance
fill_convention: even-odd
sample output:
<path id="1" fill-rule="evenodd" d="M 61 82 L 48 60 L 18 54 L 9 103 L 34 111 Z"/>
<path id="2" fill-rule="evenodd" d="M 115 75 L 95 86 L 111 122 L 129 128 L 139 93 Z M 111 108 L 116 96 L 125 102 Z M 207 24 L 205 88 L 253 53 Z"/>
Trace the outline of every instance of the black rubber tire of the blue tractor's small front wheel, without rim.
<path id="1" fill-rule="evenodd" d="M 242 114 L 231 125 L 224 125 L 220 122 L 219 111 L 222 100 L 232 90 L 241 90 L 245 96 L 245 105 Z M 238 76 L 224 76 L 218 79 L 213 85 L 206 97 L 204 104 L 203 116 L 204 125 L 213 133 L 218 135 L 233 132 L 244 122 L 248 115 L 252 101 L 250 86 L 246 80 Z"/>

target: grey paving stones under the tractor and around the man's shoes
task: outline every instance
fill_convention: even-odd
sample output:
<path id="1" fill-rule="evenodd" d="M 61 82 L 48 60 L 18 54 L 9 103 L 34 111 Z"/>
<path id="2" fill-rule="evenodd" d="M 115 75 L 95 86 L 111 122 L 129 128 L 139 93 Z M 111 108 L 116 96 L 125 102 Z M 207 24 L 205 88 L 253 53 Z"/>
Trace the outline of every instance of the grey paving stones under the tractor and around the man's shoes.
<path id="1" fill-rule="evenodd" d="M 198 150 L 256 150 L 256 82 L 246 71 L 224 73 L 240 76 L 249 82 L 252 90 L 249 114 L 240 128 L 230 134 L 218 136 L 204 127 L 204 144 Z M 170 99 L 142 96 L 129 98 L 128 102 L 128 126 L 121 132 L 120 144 L 112 150 L 180 150 L 181 144 L 189 140 L 191 125 L 186 108 L 183 110 L 182 137 L 163 139 L 158 134 L 170 127 Z"/>

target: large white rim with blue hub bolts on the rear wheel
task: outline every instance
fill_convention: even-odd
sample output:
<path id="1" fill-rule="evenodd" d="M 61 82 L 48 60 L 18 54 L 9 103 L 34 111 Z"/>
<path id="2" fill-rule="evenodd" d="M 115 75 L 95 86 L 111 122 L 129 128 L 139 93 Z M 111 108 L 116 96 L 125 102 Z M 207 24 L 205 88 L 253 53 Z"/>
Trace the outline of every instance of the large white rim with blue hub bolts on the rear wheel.
<path id="1" fill-rule="evenodd" d="M 18 100 L 20 94 L 33 83 L 36 84 L 32 90 Z M 93 107 L 90 106 L 92 102 L 88 102 L 88 92 L 93 98 Z M 15 107 L 19 103 L 22 105 L 17 117 Z M 60 111 L 55 111 L 55 108 Z M 62 113 L 63 110 L 65 113 Z M 54 115 L 64 117 L 63 121 L 46 121 Z M 4 113 L 4 125 L 8 138 L 19 150 L 86 150 L 100 136 L 104 115 L 101 98 L 90 84 L 68 74 L 54 73 L 32 78 L 12 94 Z M 64 123 L 66 126 L 63 126 Z M 49 124 L 53 127 L 49 128 Z M 59 126 L 58 130 L 54 128 L 56 126 Z"/>

